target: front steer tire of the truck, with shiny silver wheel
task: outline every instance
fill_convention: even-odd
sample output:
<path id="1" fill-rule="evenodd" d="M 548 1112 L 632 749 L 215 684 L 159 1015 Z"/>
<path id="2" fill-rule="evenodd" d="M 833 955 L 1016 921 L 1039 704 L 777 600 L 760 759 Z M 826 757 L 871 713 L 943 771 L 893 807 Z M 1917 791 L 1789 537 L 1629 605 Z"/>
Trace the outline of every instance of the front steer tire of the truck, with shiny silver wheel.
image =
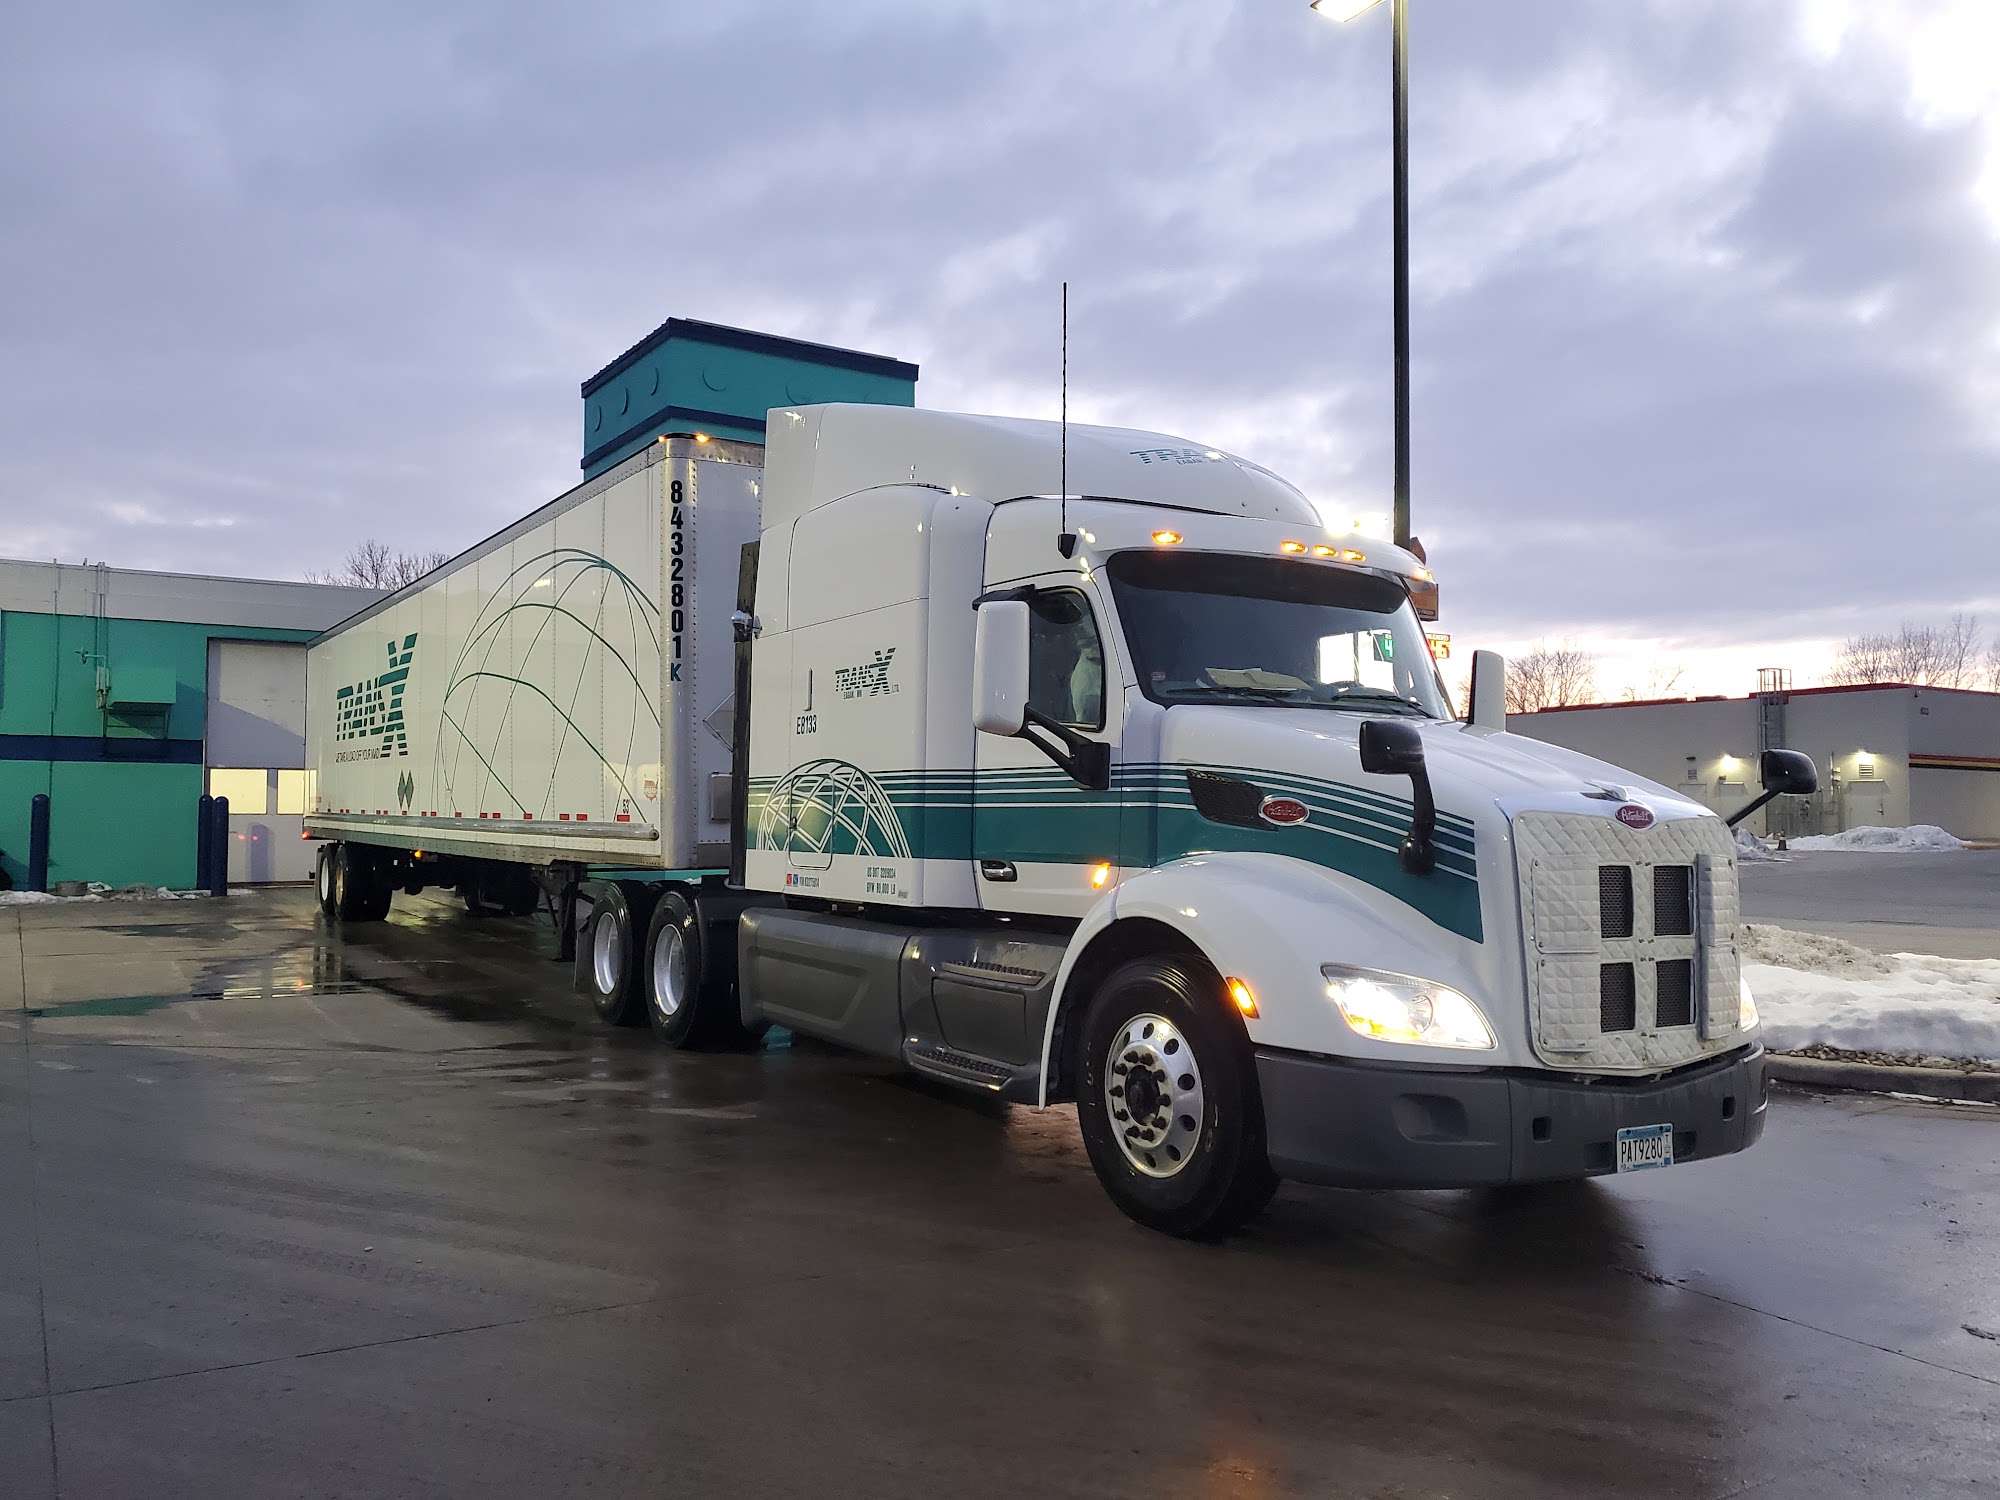
<path id="1" fill-rule="evenodd" d="M 1220 1238 L 1278 1190 L 1250 1038 L 1198 960 L 1136 958 L 1098 986 L 1076 1120 L 1104 1192 L 1162 1234 Z"/>

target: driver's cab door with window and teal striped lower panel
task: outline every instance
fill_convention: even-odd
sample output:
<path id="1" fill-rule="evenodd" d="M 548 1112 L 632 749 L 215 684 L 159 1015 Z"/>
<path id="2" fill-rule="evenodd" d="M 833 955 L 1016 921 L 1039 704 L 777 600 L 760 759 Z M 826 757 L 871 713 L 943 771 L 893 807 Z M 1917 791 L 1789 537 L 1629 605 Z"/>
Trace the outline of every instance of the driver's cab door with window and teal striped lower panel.
<path id="1" fill-rule="evenodd" d="M 1124 694 L 1106 670 L 1104 610 L 1074 574 L 1028 594 L 1028 706 L 1100 740 L 1118 764 Z M 1098 866 L 1118 850 L 1116 792 L 1078 786 L 1028 740 L 978 736 L 972 858 L 980 904 L 994 912 L 1082 916 L 1102 888 Z"/>

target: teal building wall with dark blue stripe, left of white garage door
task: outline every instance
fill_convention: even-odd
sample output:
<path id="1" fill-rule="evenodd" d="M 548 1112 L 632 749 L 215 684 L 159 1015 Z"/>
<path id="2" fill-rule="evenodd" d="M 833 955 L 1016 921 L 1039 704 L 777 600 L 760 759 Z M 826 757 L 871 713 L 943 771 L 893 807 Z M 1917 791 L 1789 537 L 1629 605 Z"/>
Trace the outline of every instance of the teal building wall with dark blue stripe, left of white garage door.
<path id="1" fill-rule="evenodd" d="M 28 882 L 28 806 L 50 802 L 48 880 L 194 884 L 210 640 L 312 630 L 0 612 L 0 866 Z M 98 706 L 98 668 L 110 708 Z"/>

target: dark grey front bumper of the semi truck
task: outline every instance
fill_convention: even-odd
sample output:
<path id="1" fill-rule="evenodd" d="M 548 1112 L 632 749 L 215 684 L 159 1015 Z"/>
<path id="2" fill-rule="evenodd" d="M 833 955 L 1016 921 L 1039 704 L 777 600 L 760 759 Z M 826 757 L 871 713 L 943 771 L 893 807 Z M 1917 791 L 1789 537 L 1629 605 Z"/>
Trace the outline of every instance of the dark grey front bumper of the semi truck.
<path id="1" fill-rule="evenodd" d="M 1674 1162 L 1764 1134 L 1764 1048 L 1664 1078 L 1352 1062 L 1260 1050 L 1272 1170 L 1336 1188 L 1476 1188 L 1616 1170 L 1624 1126 L 1672 1124 Z"/>

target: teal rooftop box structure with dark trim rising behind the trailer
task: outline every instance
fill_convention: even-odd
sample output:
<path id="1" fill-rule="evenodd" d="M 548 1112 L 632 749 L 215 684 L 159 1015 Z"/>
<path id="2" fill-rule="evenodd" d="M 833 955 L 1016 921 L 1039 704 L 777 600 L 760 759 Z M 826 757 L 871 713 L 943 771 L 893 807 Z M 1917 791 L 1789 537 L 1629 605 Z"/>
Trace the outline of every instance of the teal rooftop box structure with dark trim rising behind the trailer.
<path id="1" fill-rule="evenodd" d="M 764 442 L 772 406 L 814 402 L 916 406 L 916 366 L 668 318 L 584 382 L 584 478 L 666 434 Z"/>

